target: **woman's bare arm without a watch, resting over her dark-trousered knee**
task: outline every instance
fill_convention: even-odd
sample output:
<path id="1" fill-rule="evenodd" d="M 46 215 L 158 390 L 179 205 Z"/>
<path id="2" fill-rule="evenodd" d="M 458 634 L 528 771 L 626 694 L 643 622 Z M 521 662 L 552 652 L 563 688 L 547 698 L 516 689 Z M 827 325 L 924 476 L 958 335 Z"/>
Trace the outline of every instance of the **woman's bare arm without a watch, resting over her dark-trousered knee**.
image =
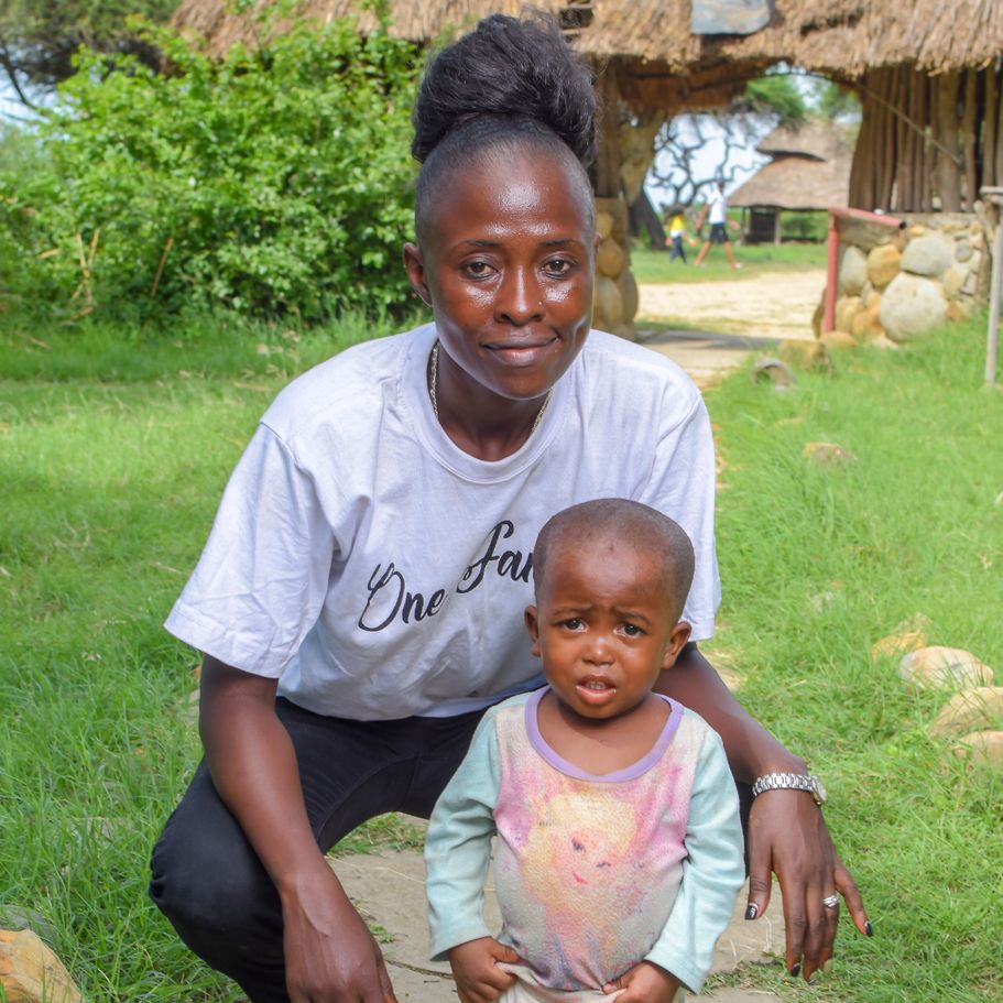
<path id="1" fill-rule="evenodd" d="M 279 890 L 292 1003 L 394 1003 L 380 950 L 310 830 L 275 679 L 206 656 L 199 732 L 212 782 Z"/>

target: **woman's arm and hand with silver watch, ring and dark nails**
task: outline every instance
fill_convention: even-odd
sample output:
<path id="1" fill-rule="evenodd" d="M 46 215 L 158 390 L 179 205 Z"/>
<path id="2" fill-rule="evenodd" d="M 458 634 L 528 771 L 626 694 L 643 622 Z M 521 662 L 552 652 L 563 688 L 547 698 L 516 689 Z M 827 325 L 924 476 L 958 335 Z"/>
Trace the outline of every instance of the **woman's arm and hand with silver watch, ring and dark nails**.
<path id="1" fill-rule="evenodd" d="M 721 735 L 735 781 L 750 784 L 765 773 L 806 772 L 804 760 L 742 708 L 695 643 L 684 648 L 655 688 L 695 710 Z M 860 933 L 870 936 L 860 892 L 810 794 L 770 791 L 760 795 L 749 815 L 746 853 L 748 918 L 765 911 L 771 872 L 779 881 L 788 971 L 808 979 L 832 957 L 839 911 L 827 909 L 821 901 L 833 891 L 842 894 Z"/>

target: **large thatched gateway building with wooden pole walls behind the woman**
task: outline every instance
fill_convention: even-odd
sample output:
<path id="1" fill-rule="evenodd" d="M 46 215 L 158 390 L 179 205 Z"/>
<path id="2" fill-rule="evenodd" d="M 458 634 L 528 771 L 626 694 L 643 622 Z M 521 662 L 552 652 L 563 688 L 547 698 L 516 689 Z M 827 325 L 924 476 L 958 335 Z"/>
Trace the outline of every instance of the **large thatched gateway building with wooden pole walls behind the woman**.
<path id="1" fill-rule="evenodd" d="M 923 212 L 963 204 L 971 210 L 980 185 L 1003 185 L 1003 0 L 773 0 L 768 23 L 748 35 L 693 34 L 695 2 L 534 0 L 559 19 L 597 68 L 604 120 L 593 183 L 601 218 L 611 220 L 611 242 L 624 238 L 626 201 L 640 192 L 661 121 L 720 107 L 778 63 L 824 74 L 860 95 L 850 206 Z M 519 13 L 523 6 L 388 0 L 393 30 L 415 41 L 462 30 L 491 12 Z M 360 0 L 303 2 L 304 12 L 321 21 L 362 7 Z M 174 22 L 203 34 L 210 51 L 255 42 L 251 19 L 228 13 L 226 0 L 183 0 Z M 363 11 L 361 28 L 368 23 Z M 610 268 L 624 268 L 629 255 L 618 249 L 607 259 Z M 613 317 L 600 308 L 600 320 L 629 334 L 636 304 L 630 272 L 602 277 L 600 299 Z"/>

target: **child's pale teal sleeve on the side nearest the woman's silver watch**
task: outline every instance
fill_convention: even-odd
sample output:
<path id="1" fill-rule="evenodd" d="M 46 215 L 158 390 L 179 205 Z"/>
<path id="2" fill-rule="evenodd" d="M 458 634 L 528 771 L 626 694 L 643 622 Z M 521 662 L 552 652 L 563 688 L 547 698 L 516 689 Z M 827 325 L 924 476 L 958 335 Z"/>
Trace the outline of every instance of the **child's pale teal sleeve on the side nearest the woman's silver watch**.
<path id="1" fill-rule="evenodd" d="M 739 797 L 724 748 L 709 728 L 697 760 L 686 851 L 672 913 L 645 960 L 672 972 L 696 993 L 745 882 Z"/>

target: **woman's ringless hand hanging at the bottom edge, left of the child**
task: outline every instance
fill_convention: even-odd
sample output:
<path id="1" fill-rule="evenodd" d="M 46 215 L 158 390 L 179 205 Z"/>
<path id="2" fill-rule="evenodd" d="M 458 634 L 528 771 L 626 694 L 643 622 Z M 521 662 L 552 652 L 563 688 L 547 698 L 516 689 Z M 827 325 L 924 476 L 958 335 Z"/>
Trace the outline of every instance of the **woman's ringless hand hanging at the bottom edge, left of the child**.
<path id="1" fill-rule="evenodd" d="M 383 955 L 327 864 L 283 896 L 282 917 L 291 1003 L 396 1003 Z"/>

